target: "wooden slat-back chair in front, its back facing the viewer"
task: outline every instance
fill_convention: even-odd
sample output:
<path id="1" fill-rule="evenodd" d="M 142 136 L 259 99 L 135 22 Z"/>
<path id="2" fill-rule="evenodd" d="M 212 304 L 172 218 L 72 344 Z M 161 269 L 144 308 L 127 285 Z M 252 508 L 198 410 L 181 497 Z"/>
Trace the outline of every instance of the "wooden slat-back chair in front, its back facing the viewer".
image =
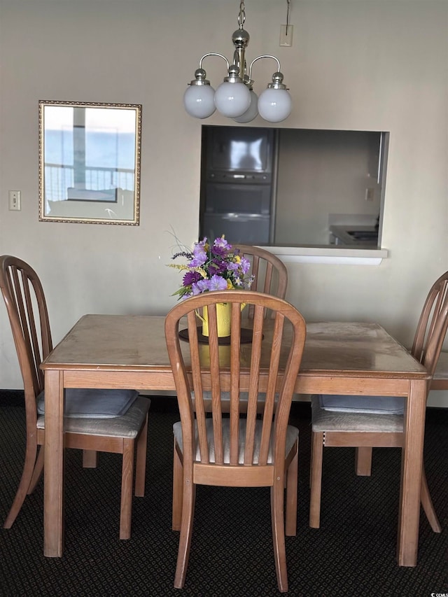
<path id="1" fill-rule="evenodd" d="M 218 302 L 232 303 L 230 346 L 218 344 Z M 241 303 L 254 307 L 251 344 L 240 342 Z M 200 344 L 195 311 L 205 306 L 209 340 Z M 274 320 L 265 318 L 265 309 L 274 311 Z M 183 316 L 188 320 L 188 344 L 179 340 Z M 269 326 L 274 330 L 271 335 L 266 329 Z M 291 342 L 284 339 L 286 327 L 292 327 Z M 196 486 L 269 486 L 277 582 L 280 591 L 288 590 L 283 489 L 286 484 L 286 535 L 295 535 L 298 430 L 288 426 L 288 417 L 305 334 L 304 319 L 297 309 L 251 290 L 203 293 L 169 311 L 165 336 L 181 413 L 181 421 L 174 424 L 172 526 L 181 531 L 174 587 L 181 589 L 185 582 Z M 286 362 L 284 371 L 279 368 L 280 356 Z M 261 369 L 267 372 L 267 390 L 265 408 L 257 417 Z M 211 391 L 212 402 L 212 416 L 208 418 L 203 400 L 206 391 Z M 230 394 L 228 416 L 221 411 L 222 393 Z M 244 414 L 239 410 L 242 395 L 248 403 Z"/>

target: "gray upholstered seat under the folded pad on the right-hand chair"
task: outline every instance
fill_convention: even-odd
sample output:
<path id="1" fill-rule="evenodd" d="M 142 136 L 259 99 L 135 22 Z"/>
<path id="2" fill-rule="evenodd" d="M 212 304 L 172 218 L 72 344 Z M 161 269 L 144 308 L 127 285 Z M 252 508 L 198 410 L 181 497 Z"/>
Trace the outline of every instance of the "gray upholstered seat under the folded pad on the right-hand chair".
<path id="1" fill-rule="evenodd" d="M 321 406 L 320 398 L 319 395 L 311 396 L 311 425 L 314 432 L 402 433 L 402 414 L 378 410 L 325 409 Z M 360 400 L 364 398 L 360 397 Z"/>

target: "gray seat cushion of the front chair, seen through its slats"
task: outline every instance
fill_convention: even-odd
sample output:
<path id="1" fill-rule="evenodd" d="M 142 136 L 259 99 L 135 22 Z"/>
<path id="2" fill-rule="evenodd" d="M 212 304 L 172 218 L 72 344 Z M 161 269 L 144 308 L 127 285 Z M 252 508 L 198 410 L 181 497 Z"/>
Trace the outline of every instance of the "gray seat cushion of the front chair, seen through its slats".
<path id="1" fill-rule="evenodd" d="M 206 428 L 207 428 L 207 443 L 209 444 L 209 459 L 210 462 L 215 461 L 215 449 L 214 449 L 214 433 L 213 433 L 213 419 L 206 419 Z M 253 463 L 258 464 L 258 456 L 260 454 L 260 440 L 261 440 L 261 429 L 262 423 L 261 421 L 255 422 L 255 448 L 253 451 Z M 182 426 L 181 422 L 178 421 L 174 423 L 173 426 L 173 433 L 174 437 L 176 438 L 176 442 L 179 445 L 179 448 L 183 449 L 182 445 Z M 297 427 L 293 427 L 292 425 L 288 425 L 286 429 L 286 451 L 285 454 L 288 455 L 290 450 L 293 448 L 295 441 L 299 435 L 299 430 Z M 199 449 L 199 442 L 197 441 L 197 424 L 195 423 L 195 437 L 196 437 L 196 462 L 200 462 L 200 449 Z M 241 419 L 239 421 L 239 464 L 244 463 L 244 442 L 246 439 L 246 421 Z M 224 462 L 226 464 L 230 463 L 230 421 L 229 419 L 223 420 L 223 448 L 224 448 Z M 267 462 L 270 464 L 272 463 L 272 438 L 269 442 L 269 454 L 267 456 Z"/>

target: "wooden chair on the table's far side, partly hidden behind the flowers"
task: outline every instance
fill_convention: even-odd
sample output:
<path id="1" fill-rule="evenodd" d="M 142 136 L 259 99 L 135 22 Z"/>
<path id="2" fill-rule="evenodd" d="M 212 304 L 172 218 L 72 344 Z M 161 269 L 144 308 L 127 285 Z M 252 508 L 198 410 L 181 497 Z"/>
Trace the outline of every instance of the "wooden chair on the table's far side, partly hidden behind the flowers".
<path id="1" fill-rule="evenodd" d="M 254 276 L 251 290 L 284 299 L 288 287 L 288 269 L 283 261 L 258 246 L 232 244 L 232 248 L 238 248 L 240 254 L 251 261 L 249 274 Z M 254 307 L 249 307 L 248 318 L 253 318 L 253 310 Z"/>

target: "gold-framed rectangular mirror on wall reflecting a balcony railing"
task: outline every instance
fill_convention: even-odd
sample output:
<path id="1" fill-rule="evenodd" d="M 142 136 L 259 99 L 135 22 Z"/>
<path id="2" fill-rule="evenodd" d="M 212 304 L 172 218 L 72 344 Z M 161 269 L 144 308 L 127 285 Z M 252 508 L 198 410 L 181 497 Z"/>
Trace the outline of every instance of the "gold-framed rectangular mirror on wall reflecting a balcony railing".
<path id="1" fill-rule="evenodd" d="M 39 220 L 139 224 L 141 105 L 39 101 Z"/>

